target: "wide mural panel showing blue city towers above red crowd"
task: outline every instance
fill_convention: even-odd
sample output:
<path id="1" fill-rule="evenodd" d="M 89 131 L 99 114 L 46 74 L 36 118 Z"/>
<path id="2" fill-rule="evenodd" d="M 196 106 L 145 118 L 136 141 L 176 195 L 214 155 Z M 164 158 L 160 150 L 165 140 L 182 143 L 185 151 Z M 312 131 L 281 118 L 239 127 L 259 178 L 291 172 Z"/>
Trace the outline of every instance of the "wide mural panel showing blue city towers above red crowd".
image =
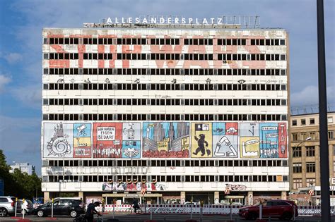
<path id="1" fill-rule="evenodd" d="M 189 123 L 144 122 L 143 157 L 189 157 Z"/>

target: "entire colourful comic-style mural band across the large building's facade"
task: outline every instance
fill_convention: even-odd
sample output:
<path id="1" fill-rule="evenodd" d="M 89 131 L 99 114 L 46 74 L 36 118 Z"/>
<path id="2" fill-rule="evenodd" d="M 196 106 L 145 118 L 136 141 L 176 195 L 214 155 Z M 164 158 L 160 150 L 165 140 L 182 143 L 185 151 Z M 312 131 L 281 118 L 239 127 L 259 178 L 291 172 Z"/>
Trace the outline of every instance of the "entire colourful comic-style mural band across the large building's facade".
<path id="1" fill-rule="evenodd" d="M 285 122 L 47 122 L 43 127 L 43 158 L 288 158 Z"/>

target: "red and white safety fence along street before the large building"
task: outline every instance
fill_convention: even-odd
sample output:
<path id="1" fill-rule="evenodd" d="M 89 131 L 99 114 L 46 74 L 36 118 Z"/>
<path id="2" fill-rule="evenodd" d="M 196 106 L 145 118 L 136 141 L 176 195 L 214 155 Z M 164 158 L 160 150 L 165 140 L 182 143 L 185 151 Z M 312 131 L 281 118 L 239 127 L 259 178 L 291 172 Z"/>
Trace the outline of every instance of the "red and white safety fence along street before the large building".
<path id="1" fill-rule="evenodd" d="M 113 207 L 114 206 L 114 207 Z M 144 212 L 152 214 L 200 214 L 200 205 L 192 204 L 141 204 L 139 205 Z M 130 204 L 113 205 L 106 204 L 105 212 L 123 212 L 132 207 Z M 238 214 L 243 206 L 230 205 L 208 205 L 202 207 L 202 214 Z M 102 210 L 102 206 L 100 209 Z M 321 215 L 320 206 L 298 206 L 300 216 L 319 216 Z M 334 215 L 334 206 L 331 206 L 331 215 Z"/>

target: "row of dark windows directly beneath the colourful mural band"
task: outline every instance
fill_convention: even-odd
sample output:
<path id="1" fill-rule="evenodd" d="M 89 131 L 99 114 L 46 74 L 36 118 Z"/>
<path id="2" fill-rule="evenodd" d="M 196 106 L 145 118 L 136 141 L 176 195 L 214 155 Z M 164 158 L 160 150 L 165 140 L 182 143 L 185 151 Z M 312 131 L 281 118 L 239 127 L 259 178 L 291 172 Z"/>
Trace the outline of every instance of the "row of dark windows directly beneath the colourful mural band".
<path id="1" fill-rule="evenodd" d="M 287 160 L 49 160 L 43 166 L 288 166 Z"/>

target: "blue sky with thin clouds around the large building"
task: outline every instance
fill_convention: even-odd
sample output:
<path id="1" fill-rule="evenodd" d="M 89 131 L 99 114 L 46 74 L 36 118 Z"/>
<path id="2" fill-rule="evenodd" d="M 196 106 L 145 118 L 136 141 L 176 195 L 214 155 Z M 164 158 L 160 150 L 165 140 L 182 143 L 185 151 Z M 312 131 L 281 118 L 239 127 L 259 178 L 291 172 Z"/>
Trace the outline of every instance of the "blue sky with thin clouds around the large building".
<path id="1" fill-rule="evenodd" d="M 261 27 L 290 35 L 293 106 L 317 104 L 317 0 L 0 1 L 0 149 L 8 163 L 40 173 L 42 28 L 82 27 L 100 18 L 141 15 L 212 18 L 260 16 Z M 328 101 L 334 104 L 334 0 L 324 0 Z"/>

